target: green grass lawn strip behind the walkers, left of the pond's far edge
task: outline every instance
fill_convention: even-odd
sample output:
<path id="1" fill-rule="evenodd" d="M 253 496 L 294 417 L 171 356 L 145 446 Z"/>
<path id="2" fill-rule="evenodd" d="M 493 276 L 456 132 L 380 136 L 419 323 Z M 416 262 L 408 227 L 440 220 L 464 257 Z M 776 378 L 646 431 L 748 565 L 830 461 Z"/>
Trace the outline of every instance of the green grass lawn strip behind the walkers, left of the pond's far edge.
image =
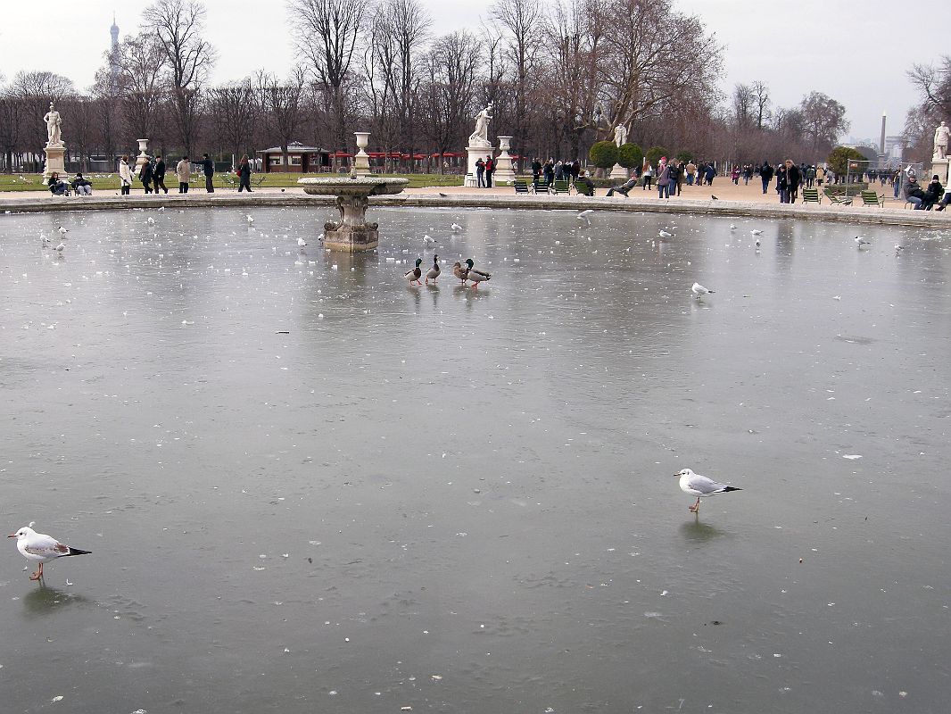
<path id="1" fill-rule="evenodd" d="M 303 176 L 313 176 L 315 178 L 333 178 L 332 173 L 307 173 Z M 345 174 L 337 174 L 344 176 Z M 375 176 L 378 174 L 374 174 Z M 407 188 L 422 188 L 425 186 L 462 186 L 463 176 L 455 174 L 438 173 L 407 173 L 407 174 L 385 174 L 387 176 L 396 176 L 398 178 L 409 179 Z M 300 173 L 256 173 L 251 176 L 251 184 L 263 176 L 262 188 L 290 188 L 298 185 L 298 179 L 303 176 Z M 230 183 L 227 179 L 233 179 L 234 175 L 229 173 L 215 174 L 215 188 L 236 188 L 237 184 Z M 101 174 L 87 173 L 86 178 L 92 184 L 93 193 L 97 190 L 119 190 L 119 174 Z M 178 191 L 178 179 L 174 173 L 165 175 L 165 186 L 169 192 Z M 132 182 L 132 188 L 142 190 L 142 184 L 135 180 Z M 204 177 L 192 182 L 192 190 L 204 188 Z M 14 173 L 0 174 L 0 191 L 49 191 L 47 185 L 43 183 L 43 177 L 36 173 Z"/>

